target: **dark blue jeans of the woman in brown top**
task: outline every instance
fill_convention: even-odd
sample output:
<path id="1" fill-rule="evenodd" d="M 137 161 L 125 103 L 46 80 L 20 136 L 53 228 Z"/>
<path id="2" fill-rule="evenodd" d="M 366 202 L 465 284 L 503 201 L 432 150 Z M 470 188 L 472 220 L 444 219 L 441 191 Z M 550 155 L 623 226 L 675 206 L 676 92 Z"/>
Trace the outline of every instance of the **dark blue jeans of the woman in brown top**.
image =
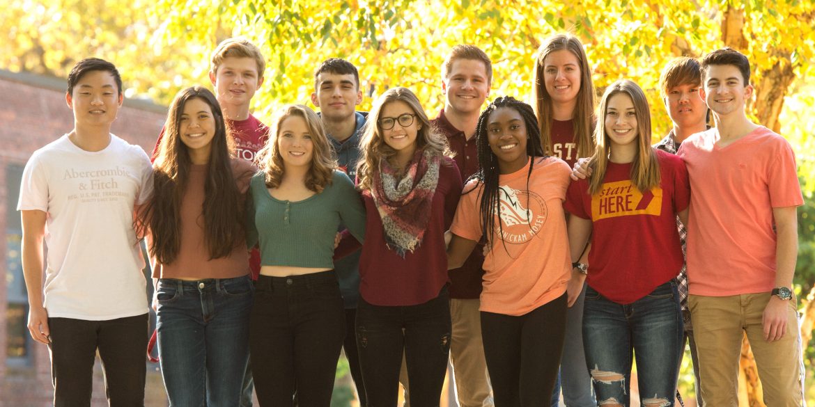
<path id="1" fill-rule="evenodd" d="M 249 276 L 158 281 L 158 353 L 171 407 L 239 405 L 252 292 Z"/>

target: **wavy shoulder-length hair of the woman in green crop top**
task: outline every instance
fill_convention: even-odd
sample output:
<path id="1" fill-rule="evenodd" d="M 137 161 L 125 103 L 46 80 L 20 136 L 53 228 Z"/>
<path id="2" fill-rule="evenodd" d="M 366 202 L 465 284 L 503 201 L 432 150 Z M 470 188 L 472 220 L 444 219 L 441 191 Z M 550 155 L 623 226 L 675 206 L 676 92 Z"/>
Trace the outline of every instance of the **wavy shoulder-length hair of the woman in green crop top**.
<path id="1" fill-rule="evenodd" d="M 285 167 L 283 157 L 280 156 L 280 125 L 289 117 L 302 117 L 306 121 L 311 142 L 314 149 L 311 152 L 311 168 L 306 174 L 306 188 L 317 193 L 321 192 L 325 186 L 331 185 L 333 170 L 337 168 L 337 161 L 333 159 L 332 148 L 328 143 L 328 137 L 323 127 L 323 121 L 311 110 L 310 107 L 302 104 L 289 104 L 282 108 L 275 115 L 275 120 L 271 125 L 271 137 L 261 151 L 258 151 L 255 162 L 263 173 L 266 174 L 266 186 L 276 188 L 280 186 L 283 179 Z"/>

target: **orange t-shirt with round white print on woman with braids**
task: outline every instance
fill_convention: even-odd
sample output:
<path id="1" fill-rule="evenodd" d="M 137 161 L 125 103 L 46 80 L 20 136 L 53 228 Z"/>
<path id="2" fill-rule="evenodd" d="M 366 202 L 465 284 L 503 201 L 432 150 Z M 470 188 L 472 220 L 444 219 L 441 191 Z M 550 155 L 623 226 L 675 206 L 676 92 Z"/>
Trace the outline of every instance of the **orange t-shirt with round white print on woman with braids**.
<path id="1" fill-rule="evenodd" d="M 570 173 L 562 160 L 536 157 L 528 190 L 529 165 L 498 178 L 500 217 L 484 259 L 482 311 L 523 315 L 566 292 L 571 257 L 563 201 Z M 482 189 L 476 181 L 465 186 L 452 233 L 481 239 Z"/>

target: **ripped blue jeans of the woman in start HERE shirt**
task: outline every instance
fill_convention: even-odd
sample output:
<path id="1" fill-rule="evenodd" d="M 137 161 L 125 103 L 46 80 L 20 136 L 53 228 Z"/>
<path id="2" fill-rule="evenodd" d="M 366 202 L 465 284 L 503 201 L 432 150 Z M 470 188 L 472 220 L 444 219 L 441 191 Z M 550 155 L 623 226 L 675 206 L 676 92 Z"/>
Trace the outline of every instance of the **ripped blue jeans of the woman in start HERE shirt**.
<path id="1" fill-rule="evenodd" d="M 629 405 L 636 356 L 641 404 L 673 405 L 684 334 L 676 282 L 624 305 L 586 287 L 583 341 L 597 403 Z"/>

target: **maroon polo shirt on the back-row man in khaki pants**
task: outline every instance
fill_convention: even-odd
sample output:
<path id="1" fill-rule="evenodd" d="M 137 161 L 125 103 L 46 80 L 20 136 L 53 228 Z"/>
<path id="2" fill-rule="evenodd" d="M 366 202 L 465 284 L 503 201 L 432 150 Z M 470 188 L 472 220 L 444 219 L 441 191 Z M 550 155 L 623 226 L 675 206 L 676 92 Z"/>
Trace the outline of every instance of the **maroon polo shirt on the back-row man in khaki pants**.
<path id="1" fill-rule="evenodd" d="M 478 171 L 478 147 L 476 147 L 475 137 L 467 140 L 463 131 L 456 129 L 447 121 L 444 109 L 438 113 L 438 117 L 430 120 L 430 125 L 447 137 L 450 149 L 456 152 L 453 160 L 456 160 L 461 180 L 466 182 L 470 175 Z M 468 300 L 477 299 L 481 295 L 483 264 L 483 246 L 479 243 L 465 260 L 464 265 L 459 269 L 450 270 L 450 298 Z"/>

